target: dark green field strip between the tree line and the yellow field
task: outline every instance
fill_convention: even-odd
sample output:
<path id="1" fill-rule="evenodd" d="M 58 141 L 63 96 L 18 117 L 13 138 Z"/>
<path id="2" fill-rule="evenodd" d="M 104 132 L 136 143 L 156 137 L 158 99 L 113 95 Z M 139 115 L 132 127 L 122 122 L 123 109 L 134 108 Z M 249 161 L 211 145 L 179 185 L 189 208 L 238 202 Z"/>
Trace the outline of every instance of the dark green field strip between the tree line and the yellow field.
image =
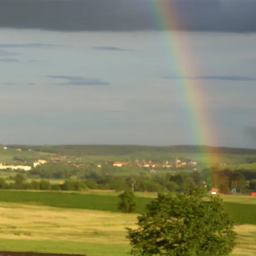
<path id="1" fill-rule="evenodd" d="M 0 202 L 6 203 L 26 203 L 34 205 L 44 205 L 59 208 L 90 209 L 108 212 L 118 212 L 118 193 L 109 192 L 79 193 L 79 192 L 31 192 L 31 191 L 0 191 Z M 146 204 L 152 198 L 136 197 L 137 213 L 143 213 Z M 145 195 L 145 194 L 144 194 Z M 156 194 L 152 193 L 151 196 Z M 250 196 L 224 196 L 224 207 L 237 224 L 256 225 L 256 197 Z M 245 214 L 246 213 L 246 214 Z"/>

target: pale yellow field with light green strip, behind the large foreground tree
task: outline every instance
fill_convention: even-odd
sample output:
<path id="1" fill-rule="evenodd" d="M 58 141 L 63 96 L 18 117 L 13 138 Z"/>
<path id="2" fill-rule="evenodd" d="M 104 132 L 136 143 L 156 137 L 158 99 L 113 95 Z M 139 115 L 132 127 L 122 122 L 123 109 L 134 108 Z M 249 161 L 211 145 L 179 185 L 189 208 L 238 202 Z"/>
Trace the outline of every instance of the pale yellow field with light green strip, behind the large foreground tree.
<path id="1" fill-rule="evenodd" d="M 136 214 L 0 203 L 1 250 L 124 256 L 125 228 L 135 228 Z M 235 255 L 253 256 L 256 226 L 236 226 Z"/>

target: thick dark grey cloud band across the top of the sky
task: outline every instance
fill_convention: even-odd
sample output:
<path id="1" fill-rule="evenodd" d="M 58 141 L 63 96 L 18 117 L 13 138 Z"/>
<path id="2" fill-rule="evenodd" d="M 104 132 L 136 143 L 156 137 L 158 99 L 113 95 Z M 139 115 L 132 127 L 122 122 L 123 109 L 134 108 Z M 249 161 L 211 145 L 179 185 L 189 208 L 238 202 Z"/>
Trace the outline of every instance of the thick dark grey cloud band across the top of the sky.
<path id="1" fill-rule="evenodd" d="M 154 6 L 196 31 L 256 31 L 255 0 L 2 0 L 0 26 L 45 30 L 155 30 Z M 168 11 L 168 9 L 170 9 Z M 169 24 L 172 26 L 172 24 Z"/>

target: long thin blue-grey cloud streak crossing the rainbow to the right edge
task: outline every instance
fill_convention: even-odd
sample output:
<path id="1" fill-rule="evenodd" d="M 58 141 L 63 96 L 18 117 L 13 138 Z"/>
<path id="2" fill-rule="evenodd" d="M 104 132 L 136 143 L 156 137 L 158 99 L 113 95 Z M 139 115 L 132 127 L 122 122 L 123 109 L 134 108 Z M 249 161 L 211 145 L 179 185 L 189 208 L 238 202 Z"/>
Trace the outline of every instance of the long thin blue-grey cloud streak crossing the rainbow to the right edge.
<path id="1" fill-rule="evenodd" d="M 256 81 L 256 77 L 247 76 L 163 76 L 170 80 L 224 80 L 224 81 Z"/>

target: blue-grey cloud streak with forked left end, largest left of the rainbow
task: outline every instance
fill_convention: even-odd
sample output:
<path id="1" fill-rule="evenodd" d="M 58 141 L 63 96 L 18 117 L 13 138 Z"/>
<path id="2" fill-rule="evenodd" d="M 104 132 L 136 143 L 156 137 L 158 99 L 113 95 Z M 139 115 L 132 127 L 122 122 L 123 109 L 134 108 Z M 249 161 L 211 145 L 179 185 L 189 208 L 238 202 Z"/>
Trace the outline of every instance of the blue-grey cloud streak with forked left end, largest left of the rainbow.
<path id="1" fill-rule="evenodd" d="M 90 79 L 80 76 L 47 76 L 49 79 L 66 80 L 66 82 L 58 82 L 57 85 L 110 85 L 98 79 Z"/>

